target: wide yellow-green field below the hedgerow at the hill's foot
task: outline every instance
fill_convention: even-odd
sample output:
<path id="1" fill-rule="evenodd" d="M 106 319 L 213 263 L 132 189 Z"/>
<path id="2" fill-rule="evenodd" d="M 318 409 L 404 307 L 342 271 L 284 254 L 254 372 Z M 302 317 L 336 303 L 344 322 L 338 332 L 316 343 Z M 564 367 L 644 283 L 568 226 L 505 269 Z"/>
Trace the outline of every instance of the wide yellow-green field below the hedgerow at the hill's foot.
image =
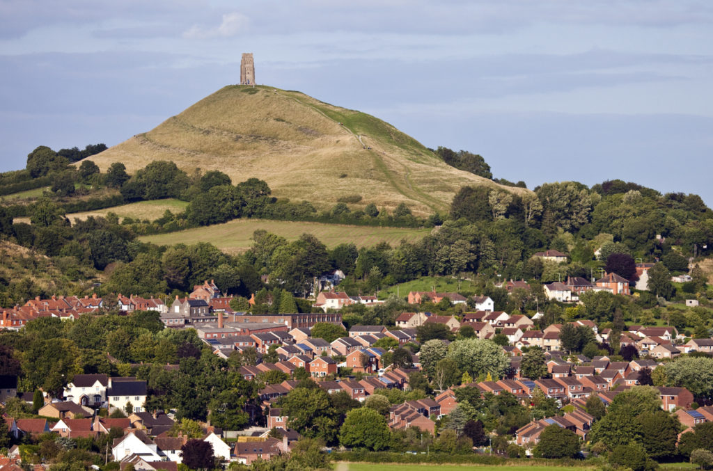
<path id="1" fill-rule="evenodd" d="M 252 247 L 252 233 L 265 229 L 287 240 L 295 240 L 305 232 L 313 234 L 327 247 L 344 242 L 354 242 L 356 247 L 371 247 L 379 242 L 398 245 L 401 239 L 414 242 L 425 237 L 431 229 L 408 229 L 401 227 L 349 226 L 346 224 L 323 224 L 321 222 L 271 221 L 267 219 L 235 219 L 225 224 L 187 229 L 170 234 L 140 237 L 141 242 L 169 245 L 177 242 L 195 244 L 210 242 L 223 252 L 239 253 Z"/>

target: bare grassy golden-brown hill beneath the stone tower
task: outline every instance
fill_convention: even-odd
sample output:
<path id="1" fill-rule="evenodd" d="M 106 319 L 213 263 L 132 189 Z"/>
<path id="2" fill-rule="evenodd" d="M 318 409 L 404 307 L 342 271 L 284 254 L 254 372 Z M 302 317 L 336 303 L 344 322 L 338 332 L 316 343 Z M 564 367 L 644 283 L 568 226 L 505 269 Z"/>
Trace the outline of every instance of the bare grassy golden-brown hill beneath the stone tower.
<path id="1" fill-rule="evenodd" d="M 173 160 L 189 173 L 221 170 L 234 183 L 257 177 L 276 197 L 323 208 L 359 195 L 359 205 L 393 209 L 405 202 L 415 214 L 429 214 L 446 211 L 463 185 L 501 187 L 449 167 L 371 115 L 267 86 L 226 86 L 89 158 L 102 171 L 113 162 L 134 172 L 152 160 Z"/>

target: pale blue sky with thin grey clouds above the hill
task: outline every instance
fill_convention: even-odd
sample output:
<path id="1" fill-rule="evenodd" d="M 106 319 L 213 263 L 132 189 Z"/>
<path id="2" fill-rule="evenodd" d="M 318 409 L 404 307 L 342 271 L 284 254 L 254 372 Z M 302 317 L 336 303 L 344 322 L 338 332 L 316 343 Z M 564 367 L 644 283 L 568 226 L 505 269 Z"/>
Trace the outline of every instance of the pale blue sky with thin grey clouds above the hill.
<path id="1" fill-rule="evenodd" d="M 0 0 L 0 171 L 240 81 L 375 115 L 495 177 L 713 207 L 713 1 Z"/>

